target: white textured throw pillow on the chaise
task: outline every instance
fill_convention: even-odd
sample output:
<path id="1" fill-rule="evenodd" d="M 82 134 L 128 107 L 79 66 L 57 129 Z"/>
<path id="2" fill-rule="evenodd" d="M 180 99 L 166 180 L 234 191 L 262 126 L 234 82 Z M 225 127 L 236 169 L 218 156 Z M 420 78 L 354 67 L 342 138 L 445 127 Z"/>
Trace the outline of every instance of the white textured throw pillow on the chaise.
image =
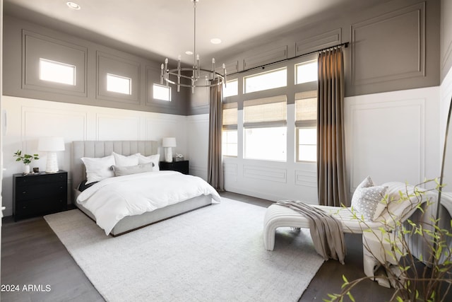
<path id="1" fill-rule="evenodd" d="M 364 216 L 364 220 L 375 221 L 386 208 L 383 197 L 387 190 L 387 186 L 375 185 L 370 176 L 367 176 L 353 193 L 352 208 L 358 216 Z"/>

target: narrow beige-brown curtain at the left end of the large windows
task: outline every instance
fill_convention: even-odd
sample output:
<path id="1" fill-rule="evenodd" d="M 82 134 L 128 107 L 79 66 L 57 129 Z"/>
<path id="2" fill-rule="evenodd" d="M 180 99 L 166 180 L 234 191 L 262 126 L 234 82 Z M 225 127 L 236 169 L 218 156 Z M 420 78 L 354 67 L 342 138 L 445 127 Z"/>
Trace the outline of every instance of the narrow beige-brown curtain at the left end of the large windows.
<path id="1" fill-rule="evenodd" d="M 213 81 L 212 83 L 218 83 Z M 222 131 L 222 85 L 210 87 L 209 146 L 207 182 L 216 190 L 225 190 L 223 177 L 221 131 Z"/>

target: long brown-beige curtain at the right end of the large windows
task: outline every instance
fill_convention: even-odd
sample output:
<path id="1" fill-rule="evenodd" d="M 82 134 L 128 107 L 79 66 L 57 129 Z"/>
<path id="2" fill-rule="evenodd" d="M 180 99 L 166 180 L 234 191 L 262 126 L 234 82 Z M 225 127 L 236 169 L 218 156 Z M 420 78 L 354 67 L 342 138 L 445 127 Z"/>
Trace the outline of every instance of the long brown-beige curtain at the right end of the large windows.
<path id="1" fill-rule="evenodd" d="M 343 129 L 344 63 L 340 48 L 319 54 L 317 185 L 319 204 L 347 205 Z"/>

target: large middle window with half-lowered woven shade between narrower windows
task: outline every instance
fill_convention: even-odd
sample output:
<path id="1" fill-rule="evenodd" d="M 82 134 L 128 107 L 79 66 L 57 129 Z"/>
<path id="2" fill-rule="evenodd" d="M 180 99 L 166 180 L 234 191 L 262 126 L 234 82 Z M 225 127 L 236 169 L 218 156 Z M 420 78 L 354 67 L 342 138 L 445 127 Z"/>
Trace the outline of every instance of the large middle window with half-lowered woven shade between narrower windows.
<path id="1" fill-rule="evenodd" d="M 287 98 L 244 101 L 244 158 L 287 160 Z"/>

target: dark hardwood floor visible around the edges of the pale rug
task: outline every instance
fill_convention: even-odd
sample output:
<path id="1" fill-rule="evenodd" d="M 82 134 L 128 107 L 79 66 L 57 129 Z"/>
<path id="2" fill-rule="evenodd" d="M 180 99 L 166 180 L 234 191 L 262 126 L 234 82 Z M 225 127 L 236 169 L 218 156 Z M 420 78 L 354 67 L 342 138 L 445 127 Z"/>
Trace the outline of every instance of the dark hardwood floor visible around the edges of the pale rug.
<path id="1" fill-rule="evenodd" d="M 261 207 L 272 203 L 231 192 L 221 195 Z M 1 236 L 1 284 L 20 286 L 20 291 L 1 291 L 1 301 L 104 301 L 42 217 L 18 222 L 6 217 Z M 299 301 L 323 301 L 328 293 L 339 292 L 343 274 L 349 280 L 364 277 L 361 236 L 346 234 L 345 240 L 345 265 L 324 262 Z M 35 289 L 23 291 L 28 284 Z M 392 293 L 369 280 L 352 291 L 356 301 L 367 302 L 388 301 Z"/>

